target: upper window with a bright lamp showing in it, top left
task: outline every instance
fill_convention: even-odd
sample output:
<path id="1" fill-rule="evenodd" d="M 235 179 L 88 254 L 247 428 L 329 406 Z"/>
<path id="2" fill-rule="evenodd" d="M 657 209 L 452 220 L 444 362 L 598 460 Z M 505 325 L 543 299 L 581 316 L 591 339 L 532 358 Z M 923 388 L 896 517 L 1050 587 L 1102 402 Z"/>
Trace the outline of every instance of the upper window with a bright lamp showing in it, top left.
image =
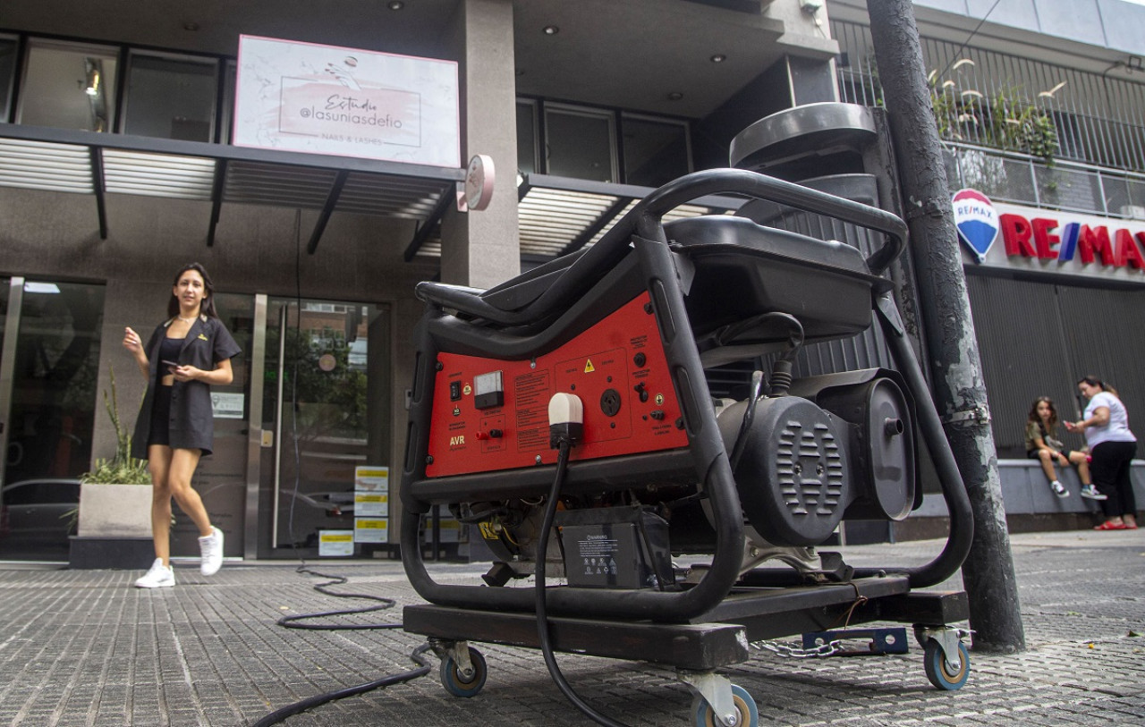
<path id="1" fill-rule="evenodd" d="M 103 46 L 31 41 L 17 121 L 111 132 L 118 57 L 114 48 Z"/>

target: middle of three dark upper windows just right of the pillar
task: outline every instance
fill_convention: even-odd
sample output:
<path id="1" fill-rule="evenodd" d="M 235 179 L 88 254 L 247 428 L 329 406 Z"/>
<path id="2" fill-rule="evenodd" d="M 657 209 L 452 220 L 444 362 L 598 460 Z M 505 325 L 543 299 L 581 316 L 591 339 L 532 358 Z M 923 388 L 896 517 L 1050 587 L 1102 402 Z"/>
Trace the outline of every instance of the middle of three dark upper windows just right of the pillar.
<path id="1" fill-rule="evenodd" d="M 615 182 L 613 114 L 571 106 L 545 106 L 545 156 L 548 174 Z"/>

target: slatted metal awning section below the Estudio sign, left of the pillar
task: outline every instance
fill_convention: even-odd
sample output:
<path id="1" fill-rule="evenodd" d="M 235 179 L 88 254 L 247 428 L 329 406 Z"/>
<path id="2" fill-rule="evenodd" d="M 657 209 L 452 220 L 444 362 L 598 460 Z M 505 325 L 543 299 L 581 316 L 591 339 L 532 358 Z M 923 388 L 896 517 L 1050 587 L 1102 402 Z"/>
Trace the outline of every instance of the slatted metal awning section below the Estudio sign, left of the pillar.
<path id="1" fill-rule="evenodd" d="M 211 201 L 207 245 L 223 203 L 319 210 L 314 253 L 334 212 L 433 227 L 465 169 L 227 144 L 0 125 L 0 187 L 95 196 L 108 237 L 108 192 Z"/>

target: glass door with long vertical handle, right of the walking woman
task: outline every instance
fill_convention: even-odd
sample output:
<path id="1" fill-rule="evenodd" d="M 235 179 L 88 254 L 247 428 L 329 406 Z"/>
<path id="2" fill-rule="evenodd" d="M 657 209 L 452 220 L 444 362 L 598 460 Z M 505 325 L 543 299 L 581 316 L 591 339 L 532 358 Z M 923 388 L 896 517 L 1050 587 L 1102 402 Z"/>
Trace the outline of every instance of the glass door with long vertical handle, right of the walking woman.
<path id="1" fill-rule="evenodd" d="M 389 311 L 274 299 L 267 307 L 260 554 L 315 558 L 386 550 L 355 530 L 355 472 L 389 464 Z M 350 539 L 347 542 L 346 536 Z M 337 548 L 335 548 L 337 550 Z M 345 552 L 345 551 L 344 551 Z"/>

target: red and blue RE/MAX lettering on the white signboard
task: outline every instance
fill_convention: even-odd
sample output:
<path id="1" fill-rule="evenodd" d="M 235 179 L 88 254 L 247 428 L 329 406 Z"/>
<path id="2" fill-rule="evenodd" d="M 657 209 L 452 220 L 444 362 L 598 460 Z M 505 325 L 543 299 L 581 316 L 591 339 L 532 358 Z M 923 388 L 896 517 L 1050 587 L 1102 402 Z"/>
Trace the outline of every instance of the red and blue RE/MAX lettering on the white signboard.
<path id="1" fill-rule="evenodd" d="M 1060 223 L 1050 216 L 998 216 L 1008 258 L 1035 258 L 1105 268 L 1145 269 L 1145 230 L 1085 222 Z"/>

